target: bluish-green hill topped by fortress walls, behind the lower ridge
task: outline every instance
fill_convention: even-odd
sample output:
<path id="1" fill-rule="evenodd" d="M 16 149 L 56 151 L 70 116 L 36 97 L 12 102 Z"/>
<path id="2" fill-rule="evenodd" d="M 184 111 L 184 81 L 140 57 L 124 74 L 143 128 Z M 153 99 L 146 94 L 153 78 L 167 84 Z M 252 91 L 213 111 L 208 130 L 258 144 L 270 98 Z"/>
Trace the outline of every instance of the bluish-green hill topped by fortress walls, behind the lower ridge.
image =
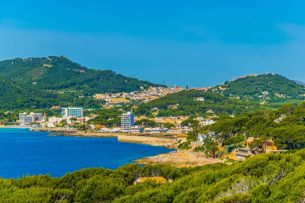
<path id="1" fill-rule="evenodd" d="M 262 95 L 261 92 L 267 91 L 270 95 L 277 93 L 297 97 L 299 94 L 305 93 L 303 86 L 278 74 L 263 74 L 239 78 L 235 81 L 218 85 L 214 89 L 222 91 L 224 95 Z"/>

